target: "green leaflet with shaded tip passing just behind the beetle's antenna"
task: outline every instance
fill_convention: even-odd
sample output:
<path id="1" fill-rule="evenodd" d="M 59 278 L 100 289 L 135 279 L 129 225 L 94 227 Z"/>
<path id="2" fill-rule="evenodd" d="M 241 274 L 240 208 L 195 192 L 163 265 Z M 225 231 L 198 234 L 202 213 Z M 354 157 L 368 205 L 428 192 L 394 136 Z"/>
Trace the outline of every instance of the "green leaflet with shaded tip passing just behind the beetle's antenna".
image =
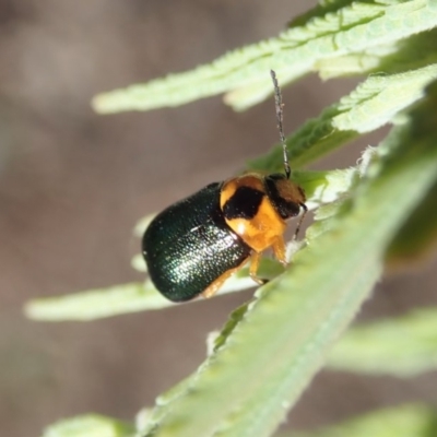
<path id="1" fill-rule="evenodd" d="M 294 168 L 308 165 L 364 132 L 395 121 L 437 79 L 437 63 L 397 74 L 371 75 L 339 103 L 308 120 L 287 139 Z M 249 162 L 252 169 L 277 170 L 282 147 Z"/>

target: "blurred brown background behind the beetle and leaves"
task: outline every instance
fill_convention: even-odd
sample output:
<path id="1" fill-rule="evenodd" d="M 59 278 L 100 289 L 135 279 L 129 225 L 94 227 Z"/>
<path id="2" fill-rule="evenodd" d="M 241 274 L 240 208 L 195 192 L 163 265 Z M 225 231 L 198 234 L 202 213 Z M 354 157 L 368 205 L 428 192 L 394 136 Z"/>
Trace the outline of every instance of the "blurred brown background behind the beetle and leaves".
<path id="1" fill-rule="evenodd" d="M 92 111 L 92 96 L 275 35 L 312 3 L 0 0 L 0 436 L 38 436 L 60 417 L 90 411 L 131 420 L 196 368 L 205 334 L 248 297 L 92 323 L 23 317 L 36 296 L 141 280 L 129 267 L 139 249 L 135 221 L 226 178 L 277 140 L 272 102 L 245 114 L 216 97 L 103 117 Z M 353 84 L 308 78 L 288 87 L 286 131 Z M 353 164 L 376 141 L 320 165 Z M 436 260 L 386 279 L 362 317 L 436 304 L 433 267 Z M 327 373 L 291 422 L 321 425 L 433 400 L 436 390 L 433 375 L 369 381 Z"/>

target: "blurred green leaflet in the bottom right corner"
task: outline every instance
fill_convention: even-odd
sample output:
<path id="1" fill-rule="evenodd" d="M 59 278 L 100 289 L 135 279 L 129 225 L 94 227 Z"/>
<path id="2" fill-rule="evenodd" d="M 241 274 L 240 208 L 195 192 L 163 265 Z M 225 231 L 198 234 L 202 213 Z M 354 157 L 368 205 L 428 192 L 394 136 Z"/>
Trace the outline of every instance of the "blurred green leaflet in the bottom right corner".
<path id="1" fill-rule="evenodd" d="M 364 414 L 307 433 L 281 433 L 275 437 L 432 437 L 437 435 L 437 411 L 404 404 Z"/>

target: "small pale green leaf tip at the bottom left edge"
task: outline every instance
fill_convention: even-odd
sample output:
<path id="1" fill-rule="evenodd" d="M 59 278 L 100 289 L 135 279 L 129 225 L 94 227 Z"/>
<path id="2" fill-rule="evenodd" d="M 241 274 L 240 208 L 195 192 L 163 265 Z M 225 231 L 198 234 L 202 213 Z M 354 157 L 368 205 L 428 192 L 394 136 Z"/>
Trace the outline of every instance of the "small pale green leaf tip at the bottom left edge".
<path id="1" fill-rule="evenodd" d="M 43 437 L 133 437 L 135 428 L 97 414 L 66 418 L 48 426 Z"/>

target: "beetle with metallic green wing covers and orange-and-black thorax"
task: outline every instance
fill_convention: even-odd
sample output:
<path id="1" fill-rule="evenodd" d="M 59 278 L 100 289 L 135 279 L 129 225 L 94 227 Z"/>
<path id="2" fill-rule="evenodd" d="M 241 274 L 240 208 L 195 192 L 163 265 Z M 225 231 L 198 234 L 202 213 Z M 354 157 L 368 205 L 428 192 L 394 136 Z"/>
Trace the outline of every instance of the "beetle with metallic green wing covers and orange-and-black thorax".
<path id="1" fill-rule="evenodd" d="M 142 252 L 155 287 L 173 302 L 210 297 L 227 277 L 251 261 L 250 276 L 257 276 L 261 253 L 273 249 L 286 264 L 285 221 L 307 212 L 305 192 L 291 179 L 282 95 L 274 71 L 277 128 L 283 146 L 284 173 L 246 173 L 213 182 L 182 199 L 151 222 L 142 239 Z"/>

